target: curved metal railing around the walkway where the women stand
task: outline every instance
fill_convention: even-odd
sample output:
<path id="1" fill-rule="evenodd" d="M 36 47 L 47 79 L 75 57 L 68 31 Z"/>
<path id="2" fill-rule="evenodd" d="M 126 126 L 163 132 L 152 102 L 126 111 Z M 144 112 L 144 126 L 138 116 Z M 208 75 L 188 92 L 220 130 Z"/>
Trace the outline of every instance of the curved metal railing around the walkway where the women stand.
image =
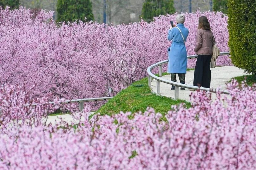
<path id="1" fill-rule="evenodd" d="M 225 56 L 225 55 L 230 55 L 230 52 L 221 52 L 219 56 Z M 192 59 L 192 58 L 197 58 L 197 55 L 187 56 L 187 59 Z M 174 98 L 175 99 L 179 99 L 179 87 L 193 89 L 193 90 L 200 89 L 200 90 L 205 90 L 205 91 L 210 91 L 210 92 L 216 93 L 216 89 L 191 86 L 191 85 L 187 85 L 187 84 L 172 82 L 170 80 L 166 80 L 166 79 L 161 78 L 163 64 L 167 64 L 167 63 L 168 63 L 168 60 L 164 60 L 164 61 L 161 61 L 161 62 L 158 62 L 156 64 L 153 64 L 153 65 L 149 66 L 148 69 L 147 69 L 147 72 L 148 72 L 148 86 L 151 87 L 152 79 L 155 79 L 156 80 L 156 93 L 157 94 L 160 94 L 160 82 L 175 86 L 175 90 L 174 90 Z M 151 70 L 154 69 L 155 67 L 159 67 L 159 77 L 155 76 L 151 72 Z M 221 93 L 224 93 L 224 94 L 229 94 L 229 92 L 227 90 L 221 90 L 220 89 L 219 91 Z"/>

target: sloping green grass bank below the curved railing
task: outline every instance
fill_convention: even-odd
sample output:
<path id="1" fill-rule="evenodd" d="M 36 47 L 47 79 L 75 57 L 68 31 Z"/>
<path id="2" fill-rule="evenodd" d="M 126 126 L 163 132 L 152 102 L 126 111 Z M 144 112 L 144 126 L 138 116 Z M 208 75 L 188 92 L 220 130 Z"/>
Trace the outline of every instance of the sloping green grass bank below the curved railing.
<path id="1" fill-rule="evenodd" d="M 163 75 L 167 75 L 167 73 L 163 73 Z M 189 102 L 184 100 L 173 100 L 152 94 L 148 87 L 148 78 L 143 78 L 134 82 L 128 88 L 121 90 L 120 93 L 103 105 L 96 113 L 112 115 L 120 111 L 132 113 L 145 112 L 149 106 L 154 108 L 155 112 L 164 114 L 171 110 L 171 105 L 179 103 L 185 103 L 187 107 L 191 106 Z"/>

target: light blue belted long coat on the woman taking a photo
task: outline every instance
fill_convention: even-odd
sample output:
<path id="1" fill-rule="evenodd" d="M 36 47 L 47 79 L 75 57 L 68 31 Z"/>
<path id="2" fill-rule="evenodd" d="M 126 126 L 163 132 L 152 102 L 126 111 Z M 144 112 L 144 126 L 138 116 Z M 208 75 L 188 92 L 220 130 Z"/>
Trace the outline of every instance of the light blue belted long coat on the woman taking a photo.
<path id="1" fill-rule="evenodd" d="M 188 36 L 188 29 L 184 24 L 177 24 L 181 29 L 185 41 Z M 187 49 L 178 28 L 168 30 L 167 39 L 173 41 L 168 48 L 168 73 L 187 73 Z"/>

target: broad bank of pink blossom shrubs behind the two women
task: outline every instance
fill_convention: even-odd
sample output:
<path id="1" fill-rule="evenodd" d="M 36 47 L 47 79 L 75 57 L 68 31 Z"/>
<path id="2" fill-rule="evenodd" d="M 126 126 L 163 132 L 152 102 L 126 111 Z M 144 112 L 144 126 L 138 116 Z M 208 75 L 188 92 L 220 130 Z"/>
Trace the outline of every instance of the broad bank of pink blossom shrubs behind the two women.
<path id="1" fill-rule="evenodd" d="M 56 24 L 52 15 L 0 9 L 0 84 L 23 86 L 34 98 L 51 94 L 51 100 L 115 95 L 147 76 L 148 66 L 167 59 L 167 30 L 176 14 L 129 25 Z M 228 51 L 227 16 L 197 11 L 185 14 L 188 55 L 194 54 L 201 15 L 209 18 L 220 50 Z M 230 64 L 227 56 L 217 63 Z M 195 60 L 188 62 L 188 68 L 194 65 Z"/>

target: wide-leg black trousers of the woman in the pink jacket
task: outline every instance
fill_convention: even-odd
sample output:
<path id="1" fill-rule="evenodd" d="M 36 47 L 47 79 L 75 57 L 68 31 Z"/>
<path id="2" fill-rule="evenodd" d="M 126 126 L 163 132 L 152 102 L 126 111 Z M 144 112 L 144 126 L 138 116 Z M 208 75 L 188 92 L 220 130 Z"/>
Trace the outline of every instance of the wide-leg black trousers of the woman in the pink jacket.
<path id="1" fill-rule="evenodd" d="M 211 86 L 211 55 L 198 55 L 194 72 L 194 86 L 210 88 Z"/>

